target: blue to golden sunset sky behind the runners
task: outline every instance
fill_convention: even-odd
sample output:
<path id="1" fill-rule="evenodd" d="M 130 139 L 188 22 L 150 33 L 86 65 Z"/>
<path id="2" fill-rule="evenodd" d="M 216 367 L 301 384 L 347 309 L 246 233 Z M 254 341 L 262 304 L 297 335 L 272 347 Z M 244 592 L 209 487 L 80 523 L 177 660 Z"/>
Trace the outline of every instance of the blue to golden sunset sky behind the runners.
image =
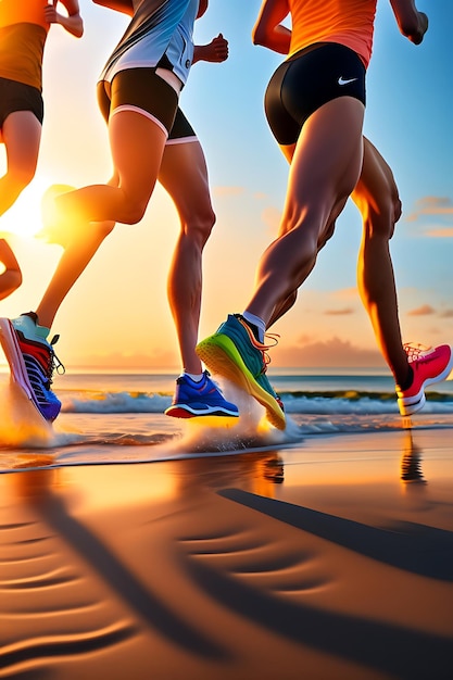
<path id="1" fill-rule="evenodd" d="M 211 0 L 196 24 L 196 42 L 222 33 L 230 55 L 223 64 L 196 64 L 180 98 L 204 149 L 217 216 L 204 251 L 200 339 L 228 313 L 246 307 L 255 265 L 276 236 L 285 201 L 288 167 L 263 109 L 281 55 L 252 45 L 260 5 L 260 0 Z M 433 345 L 453 340 L 453 3 L 418 0 L 417 7 L 430 21 L 418 47 L 400 35 L 388 0 L 378 0 L 364 133 L 391 165 L 403 202 L 391 241 L 403 340 Z M 33 237 L 46 188 L 110 177 L 96 81 L 127 17 L 87 0 L 80 0 L 80 40 L 60 26 L 49 34 L 37 174 L 0 218 L 24 276 L 21 289 L 0 303 L 1 316 L 34 310 L 61 256 L 60 247 Z M 280 335 L 272 351 L 275 369 L 385 366 L 356 289 L 362 226 L 350 203 L 295 306 L 272 329 Z M 180 368 L 166 299 L 178 230 L 161 187 L 140 224 L 116 226 L 55 318 L 55 350 L 66 368 Z"/>

